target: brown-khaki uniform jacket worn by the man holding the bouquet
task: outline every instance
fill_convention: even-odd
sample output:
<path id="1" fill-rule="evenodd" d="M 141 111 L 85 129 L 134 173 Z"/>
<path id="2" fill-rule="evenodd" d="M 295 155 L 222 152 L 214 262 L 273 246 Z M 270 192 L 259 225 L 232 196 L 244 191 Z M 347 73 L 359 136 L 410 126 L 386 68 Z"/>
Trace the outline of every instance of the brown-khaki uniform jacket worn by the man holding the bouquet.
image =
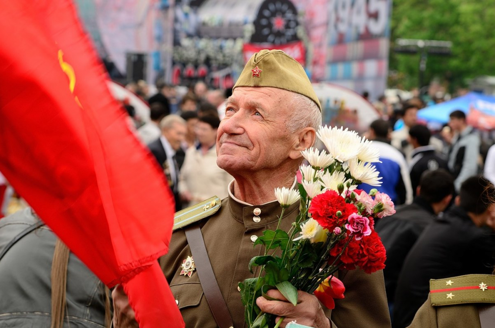
<path id="1" fill-rule="evenodd" d="M 281 229 L 288 231 L 298 214 L 298 204 L 286 209 Z M 261 210 L 260 222 L 253 220 L 255 208 Z M 247 327 L 244 307 L 238 283 L 257 277 L 248 270 L 249 260 L 262 255 L 261 245 L 253 247 L 253 240 L 266 229 L 275 230 L 277 215 L 281 213 L 274 201 L 264 205 L 250 206 L 232 197 L 222 200 L 221 208 L 199 224 L 213 272 L 232 316 L 234 327 Z M 257 221 L 257 220 L 256 220 Z M 217 327 L 198 280 L 197 272 L 189 278 L 181 273 L 181 264 L 191 251 L 183 229 L 172 235 L 167 255 L 159 259 L 160 266 L 170 284 L 179 309 L 188 328 Z M 336 308 L 327 310 L 333 327 L 338 328 L 390 328 L 390 317 L 385 295 L 383 273 L 367 275 L 361 270 L 338 273 L 346 286 L 344 299 L 336 300 Z"/>

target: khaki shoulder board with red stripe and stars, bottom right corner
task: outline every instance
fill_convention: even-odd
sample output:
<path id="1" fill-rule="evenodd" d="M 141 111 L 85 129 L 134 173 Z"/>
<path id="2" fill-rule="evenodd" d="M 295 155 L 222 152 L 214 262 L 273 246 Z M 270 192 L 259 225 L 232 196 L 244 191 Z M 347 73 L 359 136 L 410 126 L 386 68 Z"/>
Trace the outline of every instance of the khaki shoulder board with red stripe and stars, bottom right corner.
<path id="1" fill-rule="evenodd" d="M 430 280 L 433 306 L 463 303 L 495 303 L 495 276 L 466 275 Z"/>

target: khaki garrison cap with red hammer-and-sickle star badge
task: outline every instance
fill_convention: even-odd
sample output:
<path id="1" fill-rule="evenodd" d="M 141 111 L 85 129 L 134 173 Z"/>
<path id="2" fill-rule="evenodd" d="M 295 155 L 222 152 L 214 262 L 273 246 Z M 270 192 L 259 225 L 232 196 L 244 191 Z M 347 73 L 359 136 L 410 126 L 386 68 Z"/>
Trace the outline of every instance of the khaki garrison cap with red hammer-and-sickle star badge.
<path id="1" fill-rule="evenodd" d="M 253 54 L 233 90 L 237 87 L 272 87 L 288 90 L 313 100 L 321 111 L 318 96 L 301 64 L 282 50 L 264 49 Z"/>

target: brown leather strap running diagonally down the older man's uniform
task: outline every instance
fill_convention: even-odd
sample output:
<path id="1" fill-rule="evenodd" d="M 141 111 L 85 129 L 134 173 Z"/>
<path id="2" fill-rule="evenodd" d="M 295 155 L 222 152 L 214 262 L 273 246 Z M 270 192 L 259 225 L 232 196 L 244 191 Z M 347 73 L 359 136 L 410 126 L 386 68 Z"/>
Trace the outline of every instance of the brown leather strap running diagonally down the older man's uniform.
<path id="1" fill-rule="evenodd" d="M 213 268 L 211 267 L 210 259 L 204 246 L 201 229 L 196 224 L 187 227 L 185 232 L 196 265 L 196 271 L 198 272 L 199 282 L 201 283 L 201 288 L 203 289 L 213 318 L 219 328 L 233 328 L 232 317 L 213 273 Z"/>

